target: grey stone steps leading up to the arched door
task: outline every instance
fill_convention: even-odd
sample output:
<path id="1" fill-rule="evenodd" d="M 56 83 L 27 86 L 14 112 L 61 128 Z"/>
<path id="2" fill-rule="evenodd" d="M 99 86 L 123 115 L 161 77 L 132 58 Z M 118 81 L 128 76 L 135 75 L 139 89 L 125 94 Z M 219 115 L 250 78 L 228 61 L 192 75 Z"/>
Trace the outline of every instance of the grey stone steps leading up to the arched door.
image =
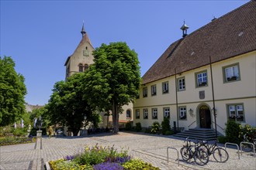
<path id="1" fill-rule="evenodd" d="M 216 140 L 216 134 L 214 129 L 206 129 L 206 128 L 194 128 L 189 129 L 187 131 L 183 131 L 178 134 L 174 134 L 174 136 L 179 138 L 192 138 L 198 139 L 200 141 L 213 141 Z"/>

